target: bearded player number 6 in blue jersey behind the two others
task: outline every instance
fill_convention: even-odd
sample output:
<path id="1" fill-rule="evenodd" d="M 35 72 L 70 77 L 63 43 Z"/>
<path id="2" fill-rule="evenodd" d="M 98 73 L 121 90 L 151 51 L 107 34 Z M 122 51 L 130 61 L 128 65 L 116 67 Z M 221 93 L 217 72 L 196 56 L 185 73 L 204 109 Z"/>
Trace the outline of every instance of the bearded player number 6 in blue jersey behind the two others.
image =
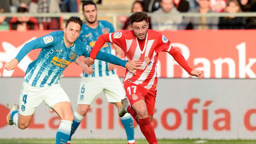
<path id="1" fill-rule="evenodd" d="M 98 11 L 93 1 L 85 1 L 82 9 L 85 23 L 82 26 L 81 34 L 79 36 L 81 41 L 88 43 L 93 47 L 101 34 L 115 32 L 114 27 L 110 22 L 97 20 Z M 113 46 L 115 48 L 116 56 L 121 57 L 122 49 L 115 44 Z M 105 43 L 101 48 L 101 51 L 111 53 L 110 43 Z M 92 66 L 87 67 L 87 65 L 81 62 L 80 59 L 77 59 L 75 62 L 83 68 L 83 77 L 77 100 L 78 107 L 77 111 L 74 113 L 75 119 L 71 127 L 68 144 L 70 144 L 71 136 L 86 115 L 90 105 L 102 91 L 104 91 L 107 101 L 114 104 L 118 110 L 122 107 L 121 99 L 125 98 L 122 83 L 114 71 L 116 65 L 101 60 L 95 60 Z M 128 144 L 136 144 L 131 115 L 127 113 L 120 119 L 126 131 Z"/>

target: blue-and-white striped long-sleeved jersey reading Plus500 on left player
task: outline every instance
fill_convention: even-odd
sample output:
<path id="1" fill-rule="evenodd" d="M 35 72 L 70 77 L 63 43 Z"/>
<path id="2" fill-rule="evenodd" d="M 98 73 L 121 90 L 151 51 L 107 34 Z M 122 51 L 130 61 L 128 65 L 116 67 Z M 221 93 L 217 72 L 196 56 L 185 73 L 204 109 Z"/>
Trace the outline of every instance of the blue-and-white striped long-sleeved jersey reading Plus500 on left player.
<path id="1" fill-rule="evenodd" d="M 26 43 L 15 58 L 20 62 L 28 52 L 37 48 L 42 50 L 37 59 L 29 64 L 24 77 L 29 85 L 35 87 L 48 87 L 59 83 L 64 69 L 81 55 L 89 57 L 92 49 L 80 39 L 73 46 L 66 47 L 63 31 L 56 31 Z M 126 64 L 126 61 L 108 53 L 100 52 L 96 58 L 123 67 Z"/>

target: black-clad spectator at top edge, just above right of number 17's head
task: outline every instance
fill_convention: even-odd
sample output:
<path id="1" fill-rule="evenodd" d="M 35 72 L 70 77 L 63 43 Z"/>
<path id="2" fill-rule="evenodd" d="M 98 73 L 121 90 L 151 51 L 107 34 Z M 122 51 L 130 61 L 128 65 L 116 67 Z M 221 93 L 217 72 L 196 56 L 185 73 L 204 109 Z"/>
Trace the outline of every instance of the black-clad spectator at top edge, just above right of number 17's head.
<path id="1" fill-rule="evenodd" d="M 153 12 L 160 8 L 160 0 L 141 0 L 145 12 Z"/>

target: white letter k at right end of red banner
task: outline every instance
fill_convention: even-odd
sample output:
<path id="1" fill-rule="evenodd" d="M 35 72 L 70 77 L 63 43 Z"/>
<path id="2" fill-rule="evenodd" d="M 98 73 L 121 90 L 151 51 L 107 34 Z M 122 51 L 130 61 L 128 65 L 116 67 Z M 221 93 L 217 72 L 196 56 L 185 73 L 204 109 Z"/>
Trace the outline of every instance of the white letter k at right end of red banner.
<path id="1" fill-rule="evenodd" d="M 255 58 L 249 58 L 249 63 L 246 65 L 246 45 L 245 42 L 236 46 L 238 49 L 239 60 L 239 78 L 245 78 L 246 74 L 249 78 L 256 78 L 251 66 L 256 62 Z"/>

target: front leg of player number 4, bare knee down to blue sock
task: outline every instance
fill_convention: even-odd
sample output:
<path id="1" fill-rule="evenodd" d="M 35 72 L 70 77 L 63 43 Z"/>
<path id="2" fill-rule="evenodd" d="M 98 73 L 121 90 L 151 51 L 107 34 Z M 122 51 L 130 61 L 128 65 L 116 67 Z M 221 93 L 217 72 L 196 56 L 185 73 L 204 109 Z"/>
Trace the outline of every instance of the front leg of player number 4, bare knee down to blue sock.
<path id="1" fill-rule="evenodd" d="M 56 134 L 56 144 L 67 143 L 74 114 L 70 102 L 59 102 L 55 104 L 52 109 L 61 118 L 60 126 Z"/>

